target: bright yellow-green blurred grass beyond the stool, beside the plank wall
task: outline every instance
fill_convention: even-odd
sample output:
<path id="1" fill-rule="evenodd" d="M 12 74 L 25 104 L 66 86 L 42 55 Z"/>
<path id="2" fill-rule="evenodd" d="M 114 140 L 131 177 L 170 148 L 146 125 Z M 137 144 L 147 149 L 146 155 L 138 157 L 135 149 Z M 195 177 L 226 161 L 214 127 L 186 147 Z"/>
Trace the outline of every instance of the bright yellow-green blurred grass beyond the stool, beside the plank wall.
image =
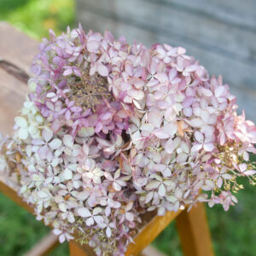
<path id="1" fill-rule="evenodd" d="M 0 0 L 0 20 L 6 20 L 33 38 L 57 34 L 73 26 L 73 0 Z"/>

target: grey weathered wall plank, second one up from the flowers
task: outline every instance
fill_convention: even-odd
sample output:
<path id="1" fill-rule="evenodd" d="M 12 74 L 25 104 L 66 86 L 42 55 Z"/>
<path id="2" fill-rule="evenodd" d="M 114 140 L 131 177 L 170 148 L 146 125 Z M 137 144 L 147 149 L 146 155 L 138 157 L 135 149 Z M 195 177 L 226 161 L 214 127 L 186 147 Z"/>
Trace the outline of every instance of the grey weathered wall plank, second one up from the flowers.
<path id="1" fill-rule="evenodd" d="M 170 37 L 174 35 L 179 41 L 211 49 L 219 55 L 248 61 L 256 68 L 256 32 L 158 2 L 79 0 L 78 6 L 79 10 L 86 9 L 98 15 L 108 15 L 127 24 Z"/>

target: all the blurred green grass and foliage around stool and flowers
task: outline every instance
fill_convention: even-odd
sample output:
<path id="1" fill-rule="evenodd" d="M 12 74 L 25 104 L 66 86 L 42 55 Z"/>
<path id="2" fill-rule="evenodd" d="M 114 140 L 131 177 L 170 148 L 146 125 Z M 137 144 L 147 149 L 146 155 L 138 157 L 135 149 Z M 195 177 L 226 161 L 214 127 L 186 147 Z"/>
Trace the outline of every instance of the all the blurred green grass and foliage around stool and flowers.
<path id="1" fill-rule="evenodd" d="M 94 1 L 94 0 L 92 0 Z M 49 28 L 56 34 L 73 27 L 73 0 L 0 0 L 0 20 L 6 20 L 33 38 L 47 37 Z M 4 35 L 1 35 L 4 38 Z M 245 189 L 237 195 L 239 204 L 224 212 L 222 207 L 207 207 L 207 217 L 216 255 L 256 255 L 256 188 L 241 180 Z M 44 224 L 17 207 L 0 194 L 0 255 L 19 256 L 49 232 Z M 181 256 L 175 224 L 154 241 L 166 255 Z M 68 255 L 67 244 L 57 247 L 50 255 Z"/>

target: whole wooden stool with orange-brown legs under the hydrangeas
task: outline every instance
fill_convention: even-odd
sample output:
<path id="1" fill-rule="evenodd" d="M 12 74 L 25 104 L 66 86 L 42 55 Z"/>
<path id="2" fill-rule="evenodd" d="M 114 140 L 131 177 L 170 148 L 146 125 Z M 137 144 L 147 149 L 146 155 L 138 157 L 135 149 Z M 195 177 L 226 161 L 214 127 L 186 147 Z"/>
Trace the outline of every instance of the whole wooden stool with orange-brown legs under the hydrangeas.
<path id="1" fill-rule="evenodd" d="M 9 24 L 0 22 L 0 130 L 3 134 L 12 131 L 14 118 L 17 111 L 22 107 L 28 89 L 26 87 L 27 75 L 33 55 L 38 52 L 38 42 L 18 32 Z M 9 188 L 6 180 L 0 177 L 0 191 L 9 196 L 20 207 L 26 208 L 33 213 L 32 207 L 28 206 L 17 195 L 14 189 Z M 207 225 L 206 212 L 203 204 L 198 204 L 189 212 L 166 212 L 165 216 L 150 216 L 137 236 L 135 244 L 128 245 L 125 255 L 137 255 L 147 247 L 172 220 L 176 220 L 177 231 L 180 236 L 183 255 L 185 256 L 212 256 L 212 243 Z M 30 253 L 26 255 L 47 255 L 58 244 L 57 237 L 49 235 L 40 241 Z M 80 246 L 75 241 L 69 242 L 71 256 L 95 255 L 88 246 Z M 156 254 L 152 254 L 155 255 Z"/>

